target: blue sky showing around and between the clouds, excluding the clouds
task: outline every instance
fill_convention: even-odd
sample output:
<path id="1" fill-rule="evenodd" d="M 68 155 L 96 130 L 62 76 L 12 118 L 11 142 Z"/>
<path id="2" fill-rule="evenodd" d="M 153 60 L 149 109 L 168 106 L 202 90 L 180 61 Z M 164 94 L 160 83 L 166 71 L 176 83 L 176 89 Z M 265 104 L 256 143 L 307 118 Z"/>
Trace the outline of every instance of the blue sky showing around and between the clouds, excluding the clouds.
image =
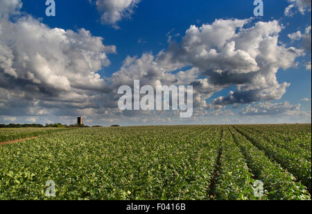
<path id="1" fill-rule="evenodd" d="M 6 0 L 1 0 L 6 1 Z M 19 0 L 16 0 L 19 1 Z M 70 112 L 71 109 L 76 114 L 80 113 L 85 115 L 87 122 L 89 124 L 103 124 L 110 125 L 112 122 L 121 123 L 125 125 L 132 124 L 205 124 L 211 117 L 212 123 L 245 123 L 245 122 L 261 122 L 261 123 L 274 123 L 274 122 L 311 122 L 311 64 L 310 69 L 306 68 L 306 63 L 311 63 L 311 31 L 308 32 L 305 36 L 310 35 L 310 51 L 304 50 L 304 32 L 306 28 L 311 26 L 311 2 L 307 5 L 306 1 L 302 0 L 281 0 L 281 1 L 263 1 L 264 3 L 264 16 L 263 17 L 254 17 L 254 1 L 252 0 L 237 0 L 237 1 L 205 1 L 205 0 L 135 0 L 135 3 L 130 7 L 125 7 L 125 10 L 121 13 L 128 11 L 131 12 L 128 14 L 128 17 L 121 17 L 117 22 L 103 22 L 101 20 L 101 15 L 110 12 L 112 8 L 107 8 L 103 6 L 96 6 L 96 1 L 105 1 L 110 0 L 94 0 L 90 3 L 88 0 L 55 0 L 56 6 L 56 16 L 55 17 L 46 17 L 45 15 L 45 0 L 28 0 L 21 1 L 23 3 L 21 8 L 17 8 L 17 11 L 21 11 L 18 15 L 9 14 L 10 22 L 17 23 L 18 19 L 23 17 L 32 17 L 33 19 L 38 20 L 38 22 L 46 25 L 48 28 L 61 28 L 64 31 L 72 30 L 79 34 L 80 28 L 85 28 L 90 32 L 92 37 L 101 37 L 103 38 L 102 42 L 105 46 L 113 45 L 116 47 L 116 53 L 107 53 L 107 59 L 110 61 L 110 65 L 100 66 L 94 71 L 97 74 L 101 75 L 101 79 L 110 79 L 112 74 L 116 74 L 120 71 L 121 67 L 124 65 L 124 60 L 127 57 L 141 58 L 142 54 L 150 54 L 155 57 L 155 62 L 157 61 L 156 57 L 159 51 L 164 51 L 165 53 L 171 53 L 168 50 L 170 47 L 170 42 L 168 42 L 168 36 L 170 35 L 171 41 L 175 41 L 177 44 L 182 45 L 182 41 L 185 40 L 184 36 L 187 35 L 187 30 L 191 25 L 200 27 L 202 25 L 211 25 L 216 19 L 232 20 L 232 19 L 250 19 L 248 24 L 245 24 L 244 28 L 250 28 L 256 25 L 258 22 L 273 22 L 277 20 L 279 26 L 281 26 L 281 31 L 278 33 L 278 42 L 279 46 L 285 46 L 285 48 L 295 47 L 295 49 L 302 49 L 303 53 L 296 56 L 293 60 L 293 65 L 286 66 L 286 69 L 283 69 L 282 65 L 279 67 L 276 74 L 278 83 L 290 83 L 286 88 L 286 92 L 282 96 L 277 96 L 273 99 L 254 99 L 250 103 L 243 102 L 241 104 L 225 104 L 218 105 L 218 108 L 209 106 L 209 104 L 214 103 L 214 100 L 218 97 L 227 97 L 227 94 L 230 91 L 235 91 L 237 85 L 229 84 L 227 86 L 223 85 L 221 90 L 214 91 L 211 96 L 202 96 L 205 97 L 207 105 L 200 106 L 198 111 L 202 113 L 200 118 L 196 120 L 178 120 L 175 118 L 175 115 L 170 115 L 169 113 L 164 113 L 161 116 L 162 120 L 157 121 L 153 118 L 153 113 L 144 113 L 134 114 L 133 117 L 124 117 L 120 116 L 120 113 L 116 113 L 116 110 L 111 110 L 105 105 L 106 102 L 110 102 L 109 99 L 105 99 L 105 104 L 101 104 L 101 110 L 96 108 L 92 109 L 88 104 L 85 109 L 76 109 L 73 106 L 70 106 L 68 103 L 64 102 L 63 99 L 60 99 L 58 94 L 54 94 L 51 101 L 60 102 L 60 109 L 55 107 L 55 104 L 49 106 L 46 99 L 43 99 L 38 94 L 28 94 L 27 98 L 18 98 L 15 95 L 16 99 L 23 99 L 24 108 L 40 108 L 44 113 L 41 115 L 33 113 L 26 113 L 25 116 L 16 114 L 18 110 L 12 110 L 14 108 L 20 109 L 23 106 L 15 106 L 15 102 L 6 104 L 3 101 L 3 111 L 0 116 L 0 123 L 9 123 L 9 122 L 58 122 L 59 120 L 64 123 L 73 122 L 73 115 L 64 117 L 65 112 Z M 107 2 L 106 2 L 107 3 Z M 293 5 L 291 8 L 291 15 L 285 15 L 285 9 Z M 300 12 L 300 7 L 303 8 L 304 13 Z M 1 12 L 1 11 L 0 11 Z M 4 14 L 4 13 L 3 13 Z M 0 16 L 1 17 L 1 16 Z M 5 16 L 2 19 L 6 19 Z M 3 21 L 4 22 L 4 21 Z M 0 22 L 1 24 L 1 22 Z M 3 24 L 4 26 L 4 24 Z M 293 40 L 289 35 L 300 31 L 302 33 L 302 38 Z M 184 39 L 183 39 L 184 38 Z M 21 38 L 23 40 L 23 38 Z M 1 42 L 1 41 L 0 41 Z M 1 43 L 0 43 L 1 44 Z M 4 42 L 3 42 L 4 44 Z M 9 47 L 9 46 L 8 46 Z M 41 55 L 44 54 L 38 50 L 37 53 Z M 36 50 L 35 50 L 36 52 Z M 111 51 L 114 52 L 114 51 Z M 1 52 L 0 52 L 1 53 Z M 14 53 L 14 51 L 13 51 Z M 52 51 L 51 54 L 53 55 Z M 43 55 L 42 55 L 43 56 Z M 16 59 L 17 57 L 15 57 Z M 0 61 L 1 65 L 1 61 Z M 13 65 L 14 66 L 14 63 Z M 185 69 L 184 67 L 187 67 Z M 176 71 L 187 71 L 191 67 L 196 67 L 189 65 L 181 65 L 176 67 Z M 14 68 L 14 67 L 13 67 Z M 4 68 L 3 68 L 4 69 Z M 1 67 L 0 67 L 1 72 Z M 25 71 L 26 72 L 26 71 Z M 73 71 L 74 72 L 74 71 Z M 131 73 L 130 69 L 128 70 L 129 74 Z M 36 72 L 34 72 L 36 76 Z M 173 72 L 175 74 L 175 72 Z M 207 74 L 204 71 L 198 74 L 198 79 L 203 77 L 204 79 L 209 77 L 202 76 Z M 40 76 L 40 75 L 39 75 Z M 70 78 L 68 78 L 70 79 Z M 209 78 L 208 78 L 209 79 Z M 111 82 L 110 82 L 111 81 Z M 209 80 L 208 80 L 209 81 Z M 20 82 L 20 81 L 19 81 Z M 44 81 L 42 81 L 44 82 Z M 47 81 L 49 82 L 49 81 Z M 108 85 L 112 83 L 112 80 L 108 81 Z M 2 88 L 5 88 L 2 85 Z M 272 86 L 272 84 L 271 84 Z M 12 93 L 13 90 L 27 90 L 23 88 L 26 86 L 20 86 L 12 88 L 9 91 Z M 248 86 L 249 87 L 249 86 Z M 250 86 L 251 87 L 251 86 Z M 252 85 L 252 87 L 256 87 Z M 8 89 L 7 89 L 8 90 Z M 107 97 L 107 94 L 101 94 L 94 92 L 81 92 L 81 88 L 74 90 L 75 93 L 78 93 L 81 97 L 83 96 L 102 96 Z M 200 89 L 198 89 L 200 90 Z M 3 89 L 4 93 L 4 89 Z M 67 91 L 67 93 L 69 93 Z M 202 92 L 207 94 L 207 92 Z M 69 94 L 67 94 L 69 96 Z M 4 96 L 4 95 L 3 95 Z M 110 97 L 114 96 L 111 95 Z M 57 98 L 58 97 L 58 98 Z M 1 98 L 1 97 L 0 97 Z M 207 99 L 206 99 L 207 98 Z M 302 101 L 305 99 L 305 101 Z M 79 98 L 81 102 L 82 99 Z M 90 100 L 88 100 L 90 101 Z M 99 104 L 99 101 L 91 101 L 92 103 Z M 36 105 L 35 105 L 35 104 Z M 65 104 L 66 103 L 66 104 Z M 268 106 L 266 104 L 269 103 Z M 0 99 L 1 104 L 1 99 Z M 261 104 L 264 104 L 261 106 Z M 279 115 L 276 111 L 274 113 L 268 113 L 267 115 L 264 112 L 269 111 L 272 108 L 279 108 L 279 106 L 274 106 L 274 104 L 284 104 L 283 109 L 281 109 L 282 114 Z M 63 106 L 64 105 L 64 106 Z M 245 109 L 246 106 L 255 106 L 261 111 L 262 108 L 265 108 L 263 113 L 251 113 L 248 112 L 248 109 Z M 272 106 L 273 105 L 273 106 Z M 300 105 L 300 109 L 296 108 L 297 105 Z M 11 110 L 8 110 L 8 107 L 11 106 Z M 234 108 L 233 106 L 239 106 L 239 108 Z M 0 105 L 1 107 L 1 105 Z M 110 106 L 111 107 L 111 106 Z M 62 109 L 66 109 L 62 111 Z M 263 109 L 262 109 L 263 110 Z M 111 113 L 110 113 L 111 111 Z M 218 111 L 218 112 L 216 112 Z M 248 113 L 246 113 L 246 111 Z M 61 113 L 62 112 L 62 113 Z M 96 113 L 95 113 L 96 112 Z M 243 114 L 245 112 L 245 115 Z M 257 110 L 258 112 L 258 110 Z M 103 113 L 106 114 L 103 115 Z M 211 113 L 209 116 L 205 113 Z M 220 114 L 219 114 L 220 113 Z M 121 113 L 122 114 L 122 113 Z M 60 115 L 60 118 L 58 116 Z M 110 115 L 109 118 L 107 115 Z M 47 118 L 55 117 L 55 120 L 49 120 Z M 103 119 L 98 120 L 99 117 Z M 141 122 L 142 118 L 148 118 L 147 122 Z M 168 119 L 171 118 L 171 119 Z M 132 120 L 133 119 L 133 120 Z M 58 120 L 58 121 L 56 121 Z M 128 122 L 125 122 L 127 120 Z M 149 122 L 148 122 L 149 121 Z M 153 122 L 151 122 L 153 121 Z M 210 122 L 208 122 L 210 123 Z"/>

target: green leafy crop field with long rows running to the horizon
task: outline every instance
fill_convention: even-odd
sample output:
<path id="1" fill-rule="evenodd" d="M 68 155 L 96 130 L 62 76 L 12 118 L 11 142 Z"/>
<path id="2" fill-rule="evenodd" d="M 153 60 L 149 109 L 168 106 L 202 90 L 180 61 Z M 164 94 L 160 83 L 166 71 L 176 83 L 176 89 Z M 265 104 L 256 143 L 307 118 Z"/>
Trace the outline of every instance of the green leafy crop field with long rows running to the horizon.
<path id="1" fill-rule="evenodd" d="M 0 146 L 0 199 L 311 199 L 311 124 L 0 130 L 35 135 Z"/>

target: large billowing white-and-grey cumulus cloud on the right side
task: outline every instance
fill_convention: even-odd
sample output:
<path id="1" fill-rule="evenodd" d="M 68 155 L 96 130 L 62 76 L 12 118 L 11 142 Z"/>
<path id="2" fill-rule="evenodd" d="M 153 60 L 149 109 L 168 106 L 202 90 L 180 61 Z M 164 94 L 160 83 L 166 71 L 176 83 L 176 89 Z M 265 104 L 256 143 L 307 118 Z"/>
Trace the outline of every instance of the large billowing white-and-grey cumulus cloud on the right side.
<path id="1" fill-rule="evenodd" d="M 214 106 L 281 99 L 290 84 L 279 83 L 276 74 L 292 67 L 303 50 L 279 43 L 279 22 L 243 28 L 250 21 L 218 19 L 199 28 L 191 26 L 181 44 L 161 53 L 158 60 L 193 65 L 200 76 L 207 77 L 192 83 L 200 93 L 196 97 L 201 97 L 201 106 L 211 94 L 232 85 L 236 90 L 215 99 Z"/>

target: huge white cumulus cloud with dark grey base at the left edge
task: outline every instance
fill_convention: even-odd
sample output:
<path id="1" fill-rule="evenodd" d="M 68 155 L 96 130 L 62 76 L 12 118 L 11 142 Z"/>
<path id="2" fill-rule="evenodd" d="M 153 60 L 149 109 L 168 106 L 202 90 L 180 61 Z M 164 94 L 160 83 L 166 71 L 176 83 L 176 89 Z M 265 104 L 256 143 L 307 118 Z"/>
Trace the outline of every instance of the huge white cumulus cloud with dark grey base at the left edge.
<path id="1" fill-rule="evenodd" d="M 96 106 L 94 97 L 110 90 L 97 72 L 110 65 L 107 53 L 116 53 L 116 47 L 105 46 L 103 38 L 84 28 L 77 33 L 49 28 L 31 16 L 11 22 L 7 17 L 20 3 L 1 7 L 1 113 L 31 114 L 28 106 L 41 106 L 36 114 L 44 114 L 40 108 L 45 107 Z"/>

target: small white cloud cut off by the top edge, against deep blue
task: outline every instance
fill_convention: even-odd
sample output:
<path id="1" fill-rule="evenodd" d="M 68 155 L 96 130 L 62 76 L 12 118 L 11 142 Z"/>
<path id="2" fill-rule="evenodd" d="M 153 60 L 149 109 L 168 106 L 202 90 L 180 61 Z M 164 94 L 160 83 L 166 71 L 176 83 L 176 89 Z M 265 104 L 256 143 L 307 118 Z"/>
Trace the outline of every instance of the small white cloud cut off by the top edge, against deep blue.
<path id="1" fill-rule="evenodd" d="M 91 0 L 89 0 L 92 2 Z M 101 13 L 101 22 L 115 26 L 124 17 L 131 17 L 133 9 L 141 0 L 96 0 L 96 8 Z"/>

